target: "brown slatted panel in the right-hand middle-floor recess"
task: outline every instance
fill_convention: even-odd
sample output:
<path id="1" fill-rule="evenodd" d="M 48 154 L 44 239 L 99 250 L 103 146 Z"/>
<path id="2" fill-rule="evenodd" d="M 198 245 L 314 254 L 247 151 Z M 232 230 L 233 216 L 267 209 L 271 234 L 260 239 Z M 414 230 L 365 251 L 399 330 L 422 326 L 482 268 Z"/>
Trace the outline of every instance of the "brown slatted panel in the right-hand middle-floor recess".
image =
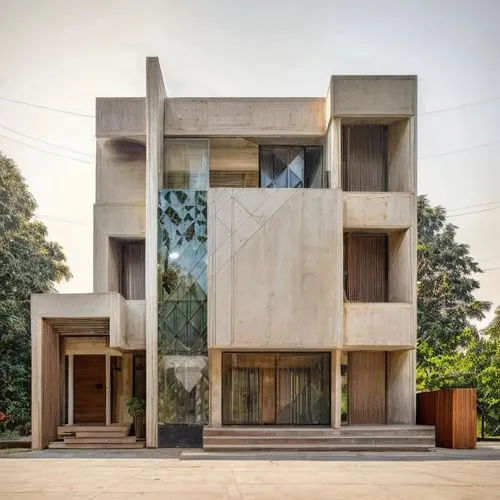
<path id="1" fill-rule="evenodd" d="M 344 234 L 344 293 L 351 302 L 388 301 L 389 237 Z"/>

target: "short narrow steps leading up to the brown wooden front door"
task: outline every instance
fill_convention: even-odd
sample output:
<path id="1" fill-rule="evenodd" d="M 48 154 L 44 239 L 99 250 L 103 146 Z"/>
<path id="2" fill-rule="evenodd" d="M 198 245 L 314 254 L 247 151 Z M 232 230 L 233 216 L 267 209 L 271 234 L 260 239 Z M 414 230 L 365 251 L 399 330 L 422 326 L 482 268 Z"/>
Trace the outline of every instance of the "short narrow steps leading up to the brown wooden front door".
<path id="1" fill-rule="evenodd" d="M 137 449 L 144 441 L 129 436 L 128 425 L 62 425 L 57 429 L 58 441 L 51 449 Z"/>

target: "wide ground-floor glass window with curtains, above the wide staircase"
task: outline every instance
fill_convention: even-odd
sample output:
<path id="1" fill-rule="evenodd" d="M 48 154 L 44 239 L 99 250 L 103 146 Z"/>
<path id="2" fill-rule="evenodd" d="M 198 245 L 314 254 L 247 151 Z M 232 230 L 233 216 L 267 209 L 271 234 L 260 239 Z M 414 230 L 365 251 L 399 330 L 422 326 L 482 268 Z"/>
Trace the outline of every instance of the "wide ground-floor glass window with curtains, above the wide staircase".
<path id="1" fill-rule="evenodd" d="M 328 425 L 329 353 L 224 353 L 224 424 Z"/>

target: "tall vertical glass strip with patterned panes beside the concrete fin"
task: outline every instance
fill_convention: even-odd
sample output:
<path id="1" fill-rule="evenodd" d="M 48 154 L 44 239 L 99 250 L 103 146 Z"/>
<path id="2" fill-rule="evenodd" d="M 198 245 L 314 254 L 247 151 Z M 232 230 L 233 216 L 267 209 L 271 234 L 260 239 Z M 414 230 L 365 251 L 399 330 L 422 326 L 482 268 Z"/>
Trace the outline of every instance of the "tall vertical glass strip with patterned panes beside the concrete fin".
<path id="1" fill-rule="evenodd" d="M 166 141 L 158 210 L 158 421 L 208 422 L 208 141 Z"/>

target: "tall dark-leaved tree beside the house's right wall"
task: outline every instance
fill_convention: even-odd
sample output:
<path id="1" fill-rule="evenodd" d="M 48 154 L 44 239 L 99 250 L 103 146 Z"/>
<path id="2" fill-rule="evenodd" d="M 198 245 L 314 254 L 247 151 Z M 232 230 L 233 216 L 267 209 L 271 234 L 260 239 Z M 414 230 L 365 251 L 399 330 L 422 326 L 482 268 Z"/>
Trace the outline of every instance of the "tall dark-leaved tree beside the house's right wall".
<path id="1" fill-rule="evenodd" d="M 478 332 L 474 321 L 484 319 L 489 302 L 476 300 L 481 272 L 468 245 L 455 239 L 457 227 L 446 221 L 443 207 L 418 197 L 418 359 L 452 354 Z"/>

